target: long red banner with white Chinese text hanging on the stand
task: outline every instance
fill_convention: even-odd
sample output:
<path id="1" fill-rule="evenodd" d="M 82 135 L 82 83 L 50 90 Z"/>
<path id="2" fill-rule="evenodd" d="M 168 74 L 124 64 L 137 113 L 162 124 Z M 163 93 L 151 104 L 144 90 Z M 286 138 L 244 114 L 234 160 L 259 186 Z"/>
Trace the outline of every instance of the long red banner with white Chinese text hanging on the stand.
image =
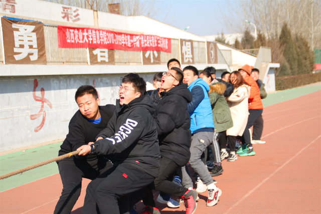
<path id="1" fill-rule="evenodd" d="M 125 51 L 172 52 L 172 39 L 95 28 L 58 26 L 59 48 L 99 48 Z"/>

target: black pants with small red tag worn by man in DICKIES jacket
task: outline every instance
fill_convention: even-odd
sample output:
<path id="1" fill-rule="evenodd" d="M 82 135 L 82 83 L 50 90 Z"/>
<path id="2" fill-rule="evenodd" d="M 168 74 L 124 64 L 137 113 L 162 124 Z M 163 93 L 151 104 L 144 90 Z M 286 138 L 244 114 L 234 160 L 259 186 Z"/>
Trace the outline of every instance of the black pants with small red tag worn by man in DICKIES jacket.
<path id="1" fill-rule="evenodd" d="M 105 178 L 97 177 L 88 184 L 82 213 L 128 213 L 128 194 L 154 180 L 153 176 L 126 163 L 115 164 L 104 174 Z"/>

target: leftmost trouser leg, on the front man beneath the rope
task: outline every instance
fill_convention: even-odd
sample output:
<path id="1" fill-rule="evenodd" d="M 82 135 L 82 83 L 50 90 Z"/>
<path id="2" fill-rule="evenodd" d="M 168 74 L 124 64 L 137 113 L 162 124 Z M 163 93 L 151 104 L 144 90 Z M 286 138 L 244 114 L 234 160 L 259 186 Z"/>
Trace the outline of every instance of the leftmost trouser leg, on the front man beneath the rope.
<path id="1" fill-rule="evenodd" d="M 84 172 L 75 165 L 73 158 L 59 161 L 58 168 L 63 189 L 54 214 L 69 214 L 80 195 Z"/>

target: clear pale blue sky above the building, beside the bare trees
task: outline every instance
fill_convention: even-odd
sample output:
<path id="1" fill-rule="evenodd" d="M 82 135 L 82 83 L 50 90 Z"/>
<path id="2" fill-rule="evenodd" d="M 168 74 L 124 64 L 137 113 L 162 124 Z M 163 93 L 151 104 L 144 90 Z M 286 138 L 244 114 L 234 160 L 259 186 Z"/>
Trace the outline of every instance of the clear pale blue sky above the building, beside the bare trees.
<path id="1" fill-rule="evenodd" d="M 233 4 L 233 2 L 230 3 L 231 5 Z M 176 28 L 185 29 L 190 26 L 187 31 L 199 36 L 220 34 L 222 30 L 224 33 L 236 33 L 229 32 L 223 23 L 220 23 L 220 18 L 222 17 L 221 10 L 225 13 L 231 13 L 227 0 L 163 1 L 162 11 L 165 12 L 158 15 L 156 19 L 164 21 L 166 11 L 169 9 L 170 13 L 167 22 Z M 172 17 L 173 19 L 169 19 Z"/>

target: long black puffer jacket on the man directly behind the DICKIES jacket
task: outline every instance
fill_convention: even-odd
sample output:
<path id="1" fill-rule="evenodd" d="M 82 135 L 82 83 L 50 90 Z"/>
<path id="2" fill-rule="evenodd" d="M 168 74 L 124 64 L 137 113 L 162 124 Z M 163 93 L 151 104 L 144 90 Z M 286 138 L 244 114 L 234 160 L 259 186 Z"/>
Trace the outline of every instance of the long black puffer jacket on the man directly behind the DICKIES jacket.
<path id="1" fill-rule="evenodd" d="M 187 84 L 181 84 L 162 92 L 162 99 L 156 107 L 155 121 L 161 155 L 179 166 L 185 166 L 191 156 L 191 118 L 187 103 L 192 98 Z"/>

